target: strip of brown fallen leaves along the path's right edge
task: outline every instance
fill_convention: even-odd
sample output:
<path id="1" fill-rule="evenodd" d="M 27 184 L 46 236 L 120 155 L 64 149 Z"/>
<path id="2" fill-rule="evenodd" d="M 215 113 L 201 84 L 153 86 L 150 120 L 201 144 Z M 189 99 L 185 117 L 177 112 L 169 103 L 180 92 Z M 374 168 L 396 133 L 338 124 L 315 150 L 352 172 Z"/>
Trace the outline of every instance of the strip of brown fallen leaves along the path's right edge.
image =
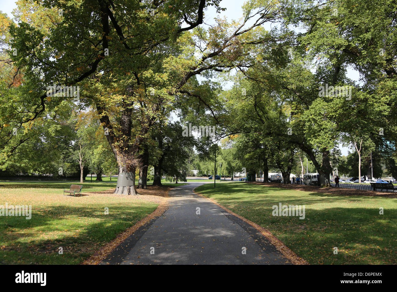
<path id="1" fill-rule="evenodd" d="M 305 259 L 299 257 L 296 253 L 294 253 L 291 249 L 289 249 L 284 244 L 284 242 L 279 240 L 269 230 L 259 226 L 258 224 L 254 223 L 254 222 L 252 222 L 252 221 L 250 221 L 248 219 L 245 219 L 243 216 L 240 216 L 240 215 L 234 213 L 233 211 L 231 211 L 231 210 L 227 209 L 226 207 L 220 205 L 219 203 L 217 203 L 213 199 L 210 199 L 210 198 L 208 198 L 206 196 L 201 195 L 195 189 L 193 189 L 193 191 L 195 192 L 195 194 L 199 195 L 200 197 L 208 199 L 209 201 L 211 201 L 215 205 L 217 205 L 217 206 L 221 207 L 222 209 L 224 209 L 226 212 L 228 212 L 228 213 L 236 216 L 237 218 L 243 220 L 244 222 L 250 224 L 256 230 L 258 230 L 260 233 L 262 233 L 263 236 L 266 237 L 270 241 L 270 243 L 273 244 L 283 254 L 283 256 L 286 257 L 293 265 L 310 265 Z"/>

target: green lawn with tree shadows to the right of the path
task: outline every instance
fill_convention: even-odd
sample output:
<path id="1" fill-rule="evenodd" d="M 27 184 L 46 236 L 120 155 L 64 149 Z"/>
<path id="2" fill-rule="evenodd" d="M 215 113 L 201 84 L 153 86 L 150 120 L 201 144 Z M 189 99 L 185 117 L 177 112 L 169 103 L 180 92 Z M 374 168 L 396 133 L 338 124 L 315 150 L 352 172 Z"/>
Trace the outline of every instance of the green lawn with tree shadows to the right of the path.
<path id="1" fill-rule="evenodd" d="M 395 198 L 335 196 L 245 182 L 195 190 L 266 228 L 311 264 L 397 263 Z M 305 219 L 273 216 L 272 206 L 279 203 L 305 205 Z"/>

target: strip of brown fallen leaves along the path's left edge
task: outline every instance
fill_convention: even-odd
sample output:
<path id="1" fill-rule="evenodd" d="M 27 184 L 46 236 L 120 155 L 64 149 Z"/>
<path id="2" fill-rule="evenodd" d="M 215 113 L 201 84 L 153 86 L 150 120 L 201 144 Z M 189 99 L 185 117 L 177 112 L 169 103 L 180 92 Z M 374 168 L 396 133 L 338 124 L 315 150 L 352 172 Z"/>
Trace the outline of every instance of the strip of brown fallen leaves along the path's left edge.
<path id="1" fill-rule="evenodd" d="M 160 217 L 165 211 L 167 211 L 168 207 L 169 207 L 168 202 L 160 203 L 160 205 L 158 205 L 156 210 L 154 210 L 152 213 L 147 215 L 142 220 L 135 223 L 133 226 L 127 228 L 126 230 L 118 234 L 118 236 L 114 240 L 102 246 L 102 248 L 100 248 L 96 253 L 94 253 L 83 263 L 81 263 L 81 265 L 98 265 L 98 263 L 100 263 L 103 259 L 105 259 L 124 240 L 126 240 L 129 236 L 131 236 L 141 226 L 144 226 L 152 219 Z"/>

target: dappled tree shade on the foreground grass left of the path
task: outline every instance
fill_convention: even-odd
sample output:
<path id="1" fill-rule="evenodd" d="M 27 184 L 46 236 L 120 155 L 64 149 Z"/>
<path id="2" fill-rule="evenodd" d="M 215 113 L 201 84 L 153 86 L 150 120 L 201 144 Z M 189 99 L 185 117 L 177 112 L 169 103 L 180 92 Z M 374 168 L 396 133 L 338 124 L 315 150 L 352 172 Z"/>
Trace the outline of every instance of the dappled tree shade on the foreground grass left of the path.
<path id="1" fill-rule="evenodd" d="M 8 255 L 14 251 L 17 258 L 10 257 L 7 260 L 2 257 L 2 263 L 29 263 L 32 259 L 33 263 L 81 262 L 154 211 L 156 204 L 109 205 L 108 215 L 105 215 L 102 207 L 54 206 L 33 211 L 30 220 L 25 217 L 4 217 L 5 220 L 0 222 L 0 242 L 4 245 L 0 254 Z M 41 239 L 43 232 L 57 238 Z M 64 249 L 64 255 L 68 254 L 66 262 L 58 254 L 59 247 Z M 30 254 L 30 259 L 24 259 L 27 254 Z"/>

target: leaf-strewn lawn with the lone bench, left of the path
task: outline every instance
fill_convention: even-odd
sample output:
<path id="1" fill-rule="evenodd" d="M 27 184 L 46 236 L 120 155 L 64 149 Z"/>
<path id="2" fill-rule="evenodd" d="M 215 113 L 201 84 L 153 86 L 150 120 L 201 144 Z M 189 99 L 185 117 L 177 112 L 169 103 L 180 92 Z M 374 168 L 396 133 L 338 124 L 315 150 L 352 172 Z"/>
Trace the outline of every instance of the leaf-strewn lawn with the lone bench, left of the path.
<path id="1" fill-rule="evenodd" d="M 0 264 L 81 263 L 158 206 L 133 196 L 64 196 L 62 191 L 70 184 L 0 182 L 0 205 L 32 206 L 30 220 L 0 217 Z M 83 193 L 111 188 L 115 188 L 114 183 L 85 182 Z M 59 247 L 63 248 L 62 255 L 58 254 Z"/>

